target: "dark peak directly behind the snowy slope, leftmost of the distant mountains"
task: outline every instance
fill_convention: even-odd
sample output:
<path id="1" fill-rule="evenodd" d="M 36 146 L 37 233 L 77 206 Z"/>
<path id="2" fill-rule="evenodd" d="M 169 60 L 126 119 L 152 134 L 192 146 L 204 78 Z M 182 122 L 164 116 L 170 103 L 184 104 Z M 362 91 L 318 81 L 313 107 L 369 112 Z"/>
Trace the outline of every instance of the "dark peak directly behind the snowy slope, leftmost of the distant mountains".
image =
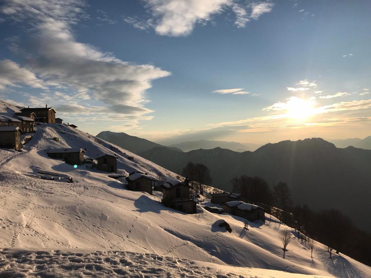
<path id="1" fill-rule="evenodd" d="M 145 152 L 146 150 L 155 147 L 164 147 L 174 150 L 176 152 L 182 152 L 181 149 L 162 146 L 160 144 L 151 142 L 143 138 L 128 135 L 124 132 L 102 131 L 98 135 L 96 135 L 96 137 L 106 140 L 107 142 L 113 143 L 135 154 Z"/>

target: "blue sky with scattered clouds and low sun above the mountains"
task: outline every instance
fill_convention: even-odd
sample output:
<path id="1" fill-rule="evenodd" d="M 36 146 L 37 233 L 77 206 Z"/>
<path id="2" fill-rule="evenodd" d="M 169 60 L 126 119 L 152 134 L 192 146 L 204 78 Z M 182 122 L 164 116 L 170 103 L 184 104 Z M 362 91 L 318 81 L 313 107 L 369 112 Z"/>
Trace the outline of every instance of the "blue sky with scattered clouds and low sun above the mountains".
<path id="1" fill-rule="evenodd" d="M 370 1 L 3 0 L 0 99 L 165 145 L 371 135 Z"/>

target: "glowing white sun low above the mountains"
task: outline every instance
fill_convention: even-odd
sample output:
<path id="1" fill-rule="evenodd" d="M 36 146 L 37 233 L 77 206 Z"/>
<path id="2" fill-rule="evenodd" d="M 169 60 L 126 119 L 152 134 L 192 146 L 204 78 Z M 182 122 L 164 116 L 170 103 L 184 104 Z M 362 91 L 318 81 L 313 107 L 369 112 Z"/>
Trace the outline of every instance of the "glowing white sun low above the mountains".
<path id="1" fill-rule="evenodd" d="M 315 101 L 313 100 L 290 97 L 286 104 L 286 115 L 288 118 L 305 120 L 316 113 L 316 109 L 313 107 L 314 105 Z"/>

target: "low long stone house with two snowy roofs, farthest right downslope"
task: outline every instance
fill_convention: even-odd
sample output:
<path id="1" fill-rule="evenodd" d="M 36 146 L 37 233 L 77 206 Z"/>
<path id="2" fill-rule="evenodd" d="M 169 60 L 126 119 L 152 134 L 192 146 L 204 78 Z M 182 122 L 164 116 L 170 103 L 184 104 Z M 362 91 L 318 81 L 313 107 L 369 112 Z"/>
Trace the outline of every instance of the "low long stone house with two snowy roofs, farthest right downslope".
<path id="1" fill-rule="evenodd" d="M 261 206 L 244 203 L 242 201 L 231 201 L 221 205 L 227 214 L 236 215 L 247 219 L 248 221 L 265 221 L 265 212 Z"/>

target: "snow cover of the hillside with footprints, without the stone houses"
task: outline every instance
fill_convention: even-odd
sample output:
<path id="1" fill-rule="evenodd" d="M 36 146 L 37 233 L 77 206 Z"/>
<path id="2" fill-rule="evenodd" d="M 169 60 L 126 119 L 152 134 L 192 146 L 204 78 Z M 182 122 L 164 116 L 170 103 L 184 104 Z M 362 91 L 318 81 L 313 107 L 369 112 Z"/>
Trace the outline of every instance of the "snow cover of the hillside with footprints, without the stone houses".
<path id="1" fill-rule="evenodd" d="M 246 231 L 237 216 L 212 214 L 202 205 L 197 214 L 184 214 L 162 206 L 159 194 L 128 191 L 90 164 L 75 169 L 51 159 L 48 148 L 85 148 L 91 158 L 116 154 L 118 172 L 175 178 L 69 126 L 35 128 L 23 152 L 0 149 L 0 277 L 371 277 L 370 267 L 345 255 L 330 260 L 319 243 L 313 260 L 297 239 L 282 259 L 278 232 L 288 227 L 274 218 L 249 222 Z M 40 170 L 74 183 L 35 178 Z M 220 219 L 232 233 L 218 226 Z"/>

